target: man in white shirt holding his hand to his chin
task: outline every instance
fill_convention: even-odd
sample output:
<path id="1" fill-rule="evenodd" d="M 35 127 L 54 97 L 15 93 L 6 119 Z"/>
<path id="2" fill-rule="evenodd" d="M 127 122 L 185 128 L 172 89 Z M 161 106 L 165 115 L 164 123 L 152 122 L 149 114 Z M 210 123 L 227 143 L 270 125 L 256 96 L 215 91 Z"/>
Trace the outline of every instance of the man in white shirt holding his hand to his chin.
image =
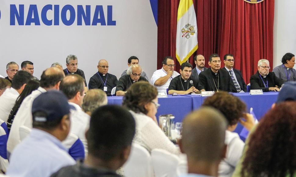
<path id="1" fill-rule="evenodd" d="M 162 68 L 154 71 L 151 77 L 151 84 L 157 88 L 158 92 L 167 92 L 171 80 L 180 75 L 174 71 L 174 68 L 174 59 L 171 56 L 166 56 L 162 61 Z"/>

